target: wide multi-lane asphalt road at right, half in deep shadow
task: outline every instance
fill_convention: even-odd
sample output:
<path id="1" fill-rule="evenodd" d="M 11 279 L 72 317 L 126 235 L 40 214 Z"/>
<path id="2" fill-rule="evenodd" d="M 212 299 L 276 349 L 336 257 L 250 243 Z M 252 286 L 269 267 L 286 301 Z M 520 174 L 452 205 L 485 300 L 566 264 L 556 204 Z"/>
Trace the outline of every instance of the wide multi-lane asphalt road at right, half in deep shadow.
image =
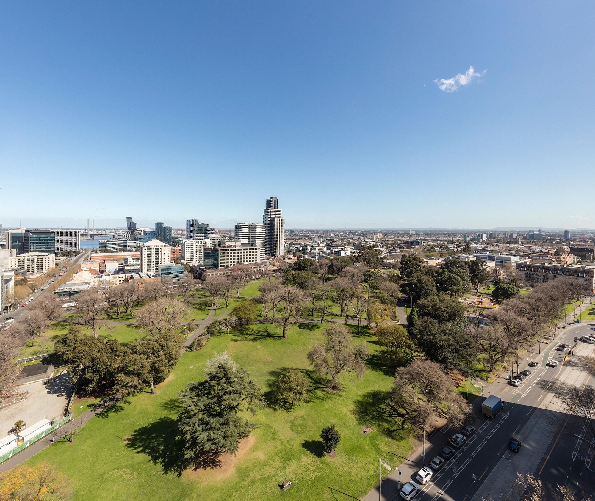
<path id="1" fill-rule="evenodd" d="M 505 403 L 503 410 L 496 418 L 488 419 L 480 414 L 481 398 L 477 399 L 474 402 L 474 415 L 478 417 L 471 423 L 477 432 L 440 471 L 434 472 L 427 484 L 422 485 L 415 478 L 419 468 L 424 465 L 421 448 L 409 458 L 385 454 L 383 459 L 392 466 L 394 473 L 383 481 L 380 496 L 376 487 L 364 500 L 402 499 L 399 485 L 410 480 L 419 485 L 416 501 L 475 501 L 481 496 L 498 501 L 518 500 L 522 489 L 516 484 L 517 471 L 534 474 L 550 484 L 569 482 L 577 490 L 595 490 L 595 463 L 591 465 L 595 449 L 566 431 L 569 424 L 578 420 L 565 411 L 558 399 L 560 392 L 568 385 L 583 387 L 593 384 L 590 370 L 581 364 L 581 358 L 594 355 L 595 345 L 579 341 L 573 349 L 574 355 L 556 350 L 559 343 L 572 346 L 574 337 L 584 334 L 595 334 L 593 322 L 561 328 L 555 341 L 541 345 L 541 353 L 527 353 L 519 358 L 518 371 L 531 371 L 531 375 L 520 386 L 509 384 L 506 374 L 486 386 L 484 398 L 489 394 L 501 397 Z M 559 367 L 547 365 L 552 359 L 560 362 Z M 530 361 L 538 361 L 540 366 L 528 367 Z M 514 369 L 516 374 L 516 365 Z M 577 434 L 581 435 L 581 427 L 577 427 L 577 430 Z M 454 433 L 458 433 L 458 430 L 443 428 L 426 440 L 425 465 L 429 465 L 439 455 Z M 508 449 L 511 437 L 523 443 L 518 453 Z M 405 461 L 399 466 L 399 484 L 394 465 L 399 465 L 402 459 Z"/>

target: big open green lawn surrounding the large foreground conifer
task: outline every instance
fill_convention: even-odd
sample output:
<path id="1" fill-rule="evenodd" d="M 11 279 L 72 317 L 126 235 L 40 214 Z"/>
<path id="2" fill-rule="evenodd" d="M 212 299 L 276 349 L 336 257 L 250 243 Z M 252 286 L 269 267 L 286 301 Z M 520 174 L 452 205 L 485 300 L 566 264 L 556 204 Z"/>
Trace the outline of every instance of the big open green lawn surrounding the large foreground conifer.
<path id="1" fill-rule="evenodd" d="M 172 441 L 177 394 L 189 381 L 203 377 L 209 356 L 223 350 L 231 353 L 266 392 L 284 368 L 309 368 L 306 353 L 321 340 L 321 332 L 318 324 L 293 325 L 288 339 L 282 339 L 277 327 L 258 324 L 211 337 L 202 350 L 184 353 L 176 370 L 156 387 L 155 395 L 139 394 L 130 403 L 92 419 L 74 443 L 52 444 L 29 464 L 54 464 L 70 477 L 74 499 L 359 499 L 377 483 L 379 454 L 392 457 L 396 464 L 397 456 L 411 450 L 405 432 L 391 434 L 383 421 L 376 420 L 393 371 L 376 356 L 378 346 L 368 331 L 353 339 L 365 343 L 371 353 L 362 380 L 346 377 L 342 390 L 330 393 L 316 389 L 320 381 L 308 372 L 313 380 L 309 402 L 292 412 L 259 411 L 251 418 L 258 428 L 235 458 L 226 456 L 223 468 L 184 472 L 181 477 L 170 471 L 179 454 Z M 73 408 L 92 403 L 79 402 Z M 319 437 L 321 429 L 331 423 L 342 436 L 335 458 L 324 455 Z M 365 435 L 363 425 L 374 430 Z M 283 480 L 291 480 L 293 486 L 281 493 L 278 484 Z"/>

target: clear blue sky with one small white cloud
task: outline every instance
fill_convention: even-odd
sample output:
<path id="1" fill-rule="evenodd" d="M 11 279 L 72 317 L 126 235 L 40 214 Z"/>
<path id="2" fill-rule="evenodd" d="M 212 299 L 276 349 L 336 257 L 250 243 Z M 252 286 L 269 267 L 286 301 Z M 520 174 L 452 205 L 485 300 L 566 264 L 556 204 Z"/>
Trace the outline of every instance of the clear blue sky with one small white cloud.
<path id="1" fill-rule="evenodd" d="M 593 2 L 1 11 L 4 226 L 595 227 Z"/>

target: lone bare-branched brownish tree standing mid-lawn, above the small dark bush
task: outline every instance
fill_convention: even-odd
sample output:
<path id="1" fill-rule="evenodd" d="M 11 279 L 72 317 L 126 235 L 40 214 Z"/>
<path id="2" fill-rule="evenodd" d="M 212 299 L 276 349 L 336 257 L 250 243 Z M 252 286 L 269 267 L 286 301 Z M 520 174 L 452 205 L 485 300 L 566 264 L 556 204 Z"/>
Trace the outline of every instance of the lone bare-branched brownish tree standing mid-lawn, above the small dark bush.
<path id="1" fill-rule="evenodd" d="M 322 376 L 331 378 L 331 388 L 339 389 L 339 374 L 352 372 L 361 378 L 366 370 L 368 353 L 364 345 L 353 346 L 349 329 L 339 324 L 325 331 L 326 342 L 316 343 L 308 352 L 308 360 Z"/>

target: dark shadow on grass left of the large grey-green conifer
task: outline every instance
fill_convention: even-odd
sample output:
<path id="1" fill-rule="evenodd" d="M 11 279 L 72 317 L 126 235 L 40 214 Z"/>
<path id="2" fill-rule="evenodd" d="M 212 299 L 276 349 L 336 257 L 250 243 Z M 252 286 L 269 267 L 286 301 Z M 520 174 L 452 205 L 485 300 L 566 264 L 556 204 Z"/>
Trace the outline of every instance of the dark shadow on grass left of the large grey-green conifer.
<path id="1" fill-rule="evenodd" d="M 181 442 L 176 440 L 178 426 L 176 419 L 163 417 L 146 426 L 137 428 L 126 444 L 131 450 L 149 456 L 149 460 L 161 466 L 164 474 L 178 476 L 186 467 Z"/>

